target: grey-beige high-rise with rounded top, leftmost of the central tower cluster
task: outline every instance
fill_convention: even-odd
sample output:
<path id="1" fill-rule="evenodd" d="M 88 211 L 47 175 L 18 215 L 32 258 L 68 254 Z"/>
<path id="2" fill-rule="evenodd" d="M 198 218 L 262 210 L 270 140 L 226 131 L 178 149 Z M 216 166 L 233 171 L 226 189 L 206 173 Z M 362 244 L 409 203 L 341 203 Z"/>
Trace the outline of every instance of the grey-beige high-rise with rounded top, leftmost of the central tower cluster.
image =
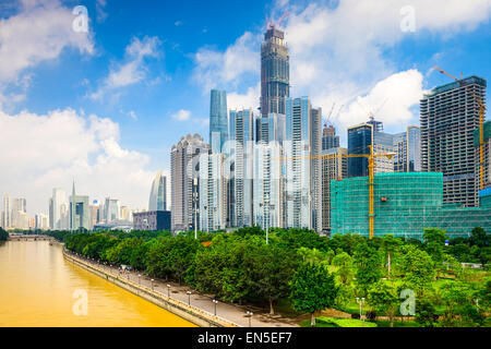
<path id="1" fill-rule="evenodd" d="M 203 137 L 188 134 L 170 151 L 171 227 L 173 231 L 188 231 L 194 227 L 194 179 L 199 179 L 200 155 L 207 154 L 209 145 Z"/>

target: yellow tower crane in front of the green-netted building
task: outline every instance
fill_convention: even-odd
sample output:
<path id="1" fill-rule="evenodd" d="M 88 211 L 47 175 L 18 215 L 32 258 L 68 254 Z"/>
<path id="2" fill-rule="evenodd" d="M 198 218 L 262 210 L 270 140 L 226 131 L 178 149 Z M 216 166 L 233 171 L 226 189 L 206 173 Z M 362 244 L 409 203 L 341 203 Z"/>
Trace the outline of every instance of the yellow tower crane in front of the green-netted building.
<path id="1" fill-rule="evenodd" d="M 374 178 L 375 178 L 375 157 L 385 156 L 390 160 L 395 153 L 384 153 L 384 154 L 374 154 L 373 145 L 368 146 L 370 148 L 370 154 L 348 154 L 348 155 L 312 155 L 312 156 L 300 156 L 300 157 L 289 157 L 289 159 L 299 159 L 299 158 L 309 158 L 309 159 L 335 159 L 335 158 L 355 158 L 355 157 L 363 157 L 368 158 L 369 163 L 369 231 L 370 239 L 373 238 L 375 231 L 375 205 L 374 205 Z M 285 157 L 282 157 L 285 159 Z"/>

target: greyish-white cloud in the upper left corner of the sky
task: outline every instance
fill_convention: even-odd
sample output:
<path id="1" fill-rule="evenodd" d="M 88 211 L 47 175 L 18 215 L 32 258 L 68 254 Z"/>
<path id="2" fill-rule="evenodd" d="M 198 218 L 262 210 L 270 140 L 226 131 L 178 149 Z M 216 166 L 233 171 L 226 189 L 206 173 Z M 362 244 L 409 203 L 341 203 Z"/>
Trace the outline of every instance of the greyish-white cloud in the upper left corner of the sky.
<path id="1" fill-rule="evenodd" d="M 74 19 L 71 9 L 56 0 L 44 0 L 22 1 L 19 13 L 0 20 L 0 95 L 8 86 L 22 91 L 7 98 L 0 96 L 0 104 L 26 91 L 26 69 L 58 58 L 67 48 L 94 53 L 93 34 L 75 33 Z"/>

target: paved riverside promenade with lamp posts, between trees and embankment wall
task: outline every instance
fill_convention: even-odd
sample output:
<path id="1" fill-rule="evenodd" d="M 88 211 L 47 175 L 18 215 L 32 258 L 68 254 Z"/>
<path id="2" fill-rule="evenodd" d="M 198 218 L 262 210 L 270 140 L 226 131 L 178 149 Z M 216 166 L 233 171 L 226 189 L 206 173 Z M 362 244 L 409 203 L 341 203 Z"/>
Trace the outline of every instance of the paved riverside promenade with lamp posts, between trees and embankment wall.
<path id="1" fill-rule="evenodd" d="M 194 305 L 196 308 L 200 308 L 204 311 L 207 311 L 212 314 L 215 313 L 215 304 L 213 303 L 213 297 L 201 294 L 195 292 L 193 289 L 191 289 L 189 286 L 180 286 L 177 282 L 166 281 L 161 279 L 154 278 L 154 281 L 152 281 L 152 278 L 144 275 L 143 273 L 137 272 L 123 272 L 121 268 L 117 266 L 110 266 L 107 264 L 99 264 L 97 261 L 83 257 L 81 255 L 77 255 L 77 257 L 95 264 L 99 267 L 103 267 L 104 269 L 120 275 L 121 278 L 129 279 L 133 282 L 140 284 L 142 286 L 146 286 L 148 288 L 152 288 L 154 291 L 159 292 L 164 296 L 169 296 L 170 298 L 173 298 L 176 300 L 179 300 L 184 303 L 190 303 L 191 305 Z M 170 287 L 167 287 L 169 285 Z M 191 294 L 188 294 L 187 292 L 191 291 Z M 253 313 L 252 317 L 249 318 L 247 315 L 247 312 L 250 311 Z M 251 305 L 236 305 L 230 303 L 224 303 L 218 301 L 216 304 L 216 314 L 220 317 L 224 317 L 225 320 L 231 321 L 240 326 L 248 327 L 249 322 L 251 322 L 252 327 L 298 327 L 297 321 L 295 318 L 290 317 L 284 317 L 282 315 L 270 315 L 268 312 L 266 312 L 263 309 L 251 306 Z"/>

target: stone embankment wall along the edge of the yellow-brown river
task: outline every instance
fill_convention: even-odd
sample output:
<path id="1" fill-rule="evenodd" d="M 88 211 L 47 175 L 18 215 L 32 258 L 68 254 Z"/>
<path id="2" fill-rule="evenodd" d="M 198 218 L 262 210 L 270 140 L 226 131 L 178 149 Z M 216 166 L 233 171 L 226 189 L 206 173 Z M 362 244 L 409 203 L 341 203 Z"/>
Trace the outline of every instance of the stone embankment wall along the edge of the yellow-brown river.
<path id="1" fill-rule="evenodd" d="M 111 268 L 104 267 L 100 264 L 97 263 L 89 263 L 83 257 L 80 257 L 69 251 L 67 251 L 64 248 L 62 249 L 63 256 L 67 261 L 70 261 L 74 263 L 75 265 L 92 272 L 96 274 L 97 276 L 105 278 L 109 282 L 112 282 L 127 291 L 132 292 L 133 294 L 136 294 L 146 301 L 149 301 L 168 312 L 184 318 L 196 326 L 200 327 L 240 327 L 240 325 L 227 321 L 225 318 L 221 318 L 220 316 L 215 316 L 214 314 L 207 313 L 206 311 L 203 311 L 202 309 L 199 309 L 196 306 L 193 306 L 191 304 L 185 304 L 179 300 L 176 300 L 171 297 L 165 296 L 160 292 L 152 290 L 152 288 L 148 288 L 143 285 L 139 285 L 128 277 L 124 279 L 121 277 L 121 275 L 118 275 L 118 273 L 115 273 L 115 270 L 111 270 Z"/>

